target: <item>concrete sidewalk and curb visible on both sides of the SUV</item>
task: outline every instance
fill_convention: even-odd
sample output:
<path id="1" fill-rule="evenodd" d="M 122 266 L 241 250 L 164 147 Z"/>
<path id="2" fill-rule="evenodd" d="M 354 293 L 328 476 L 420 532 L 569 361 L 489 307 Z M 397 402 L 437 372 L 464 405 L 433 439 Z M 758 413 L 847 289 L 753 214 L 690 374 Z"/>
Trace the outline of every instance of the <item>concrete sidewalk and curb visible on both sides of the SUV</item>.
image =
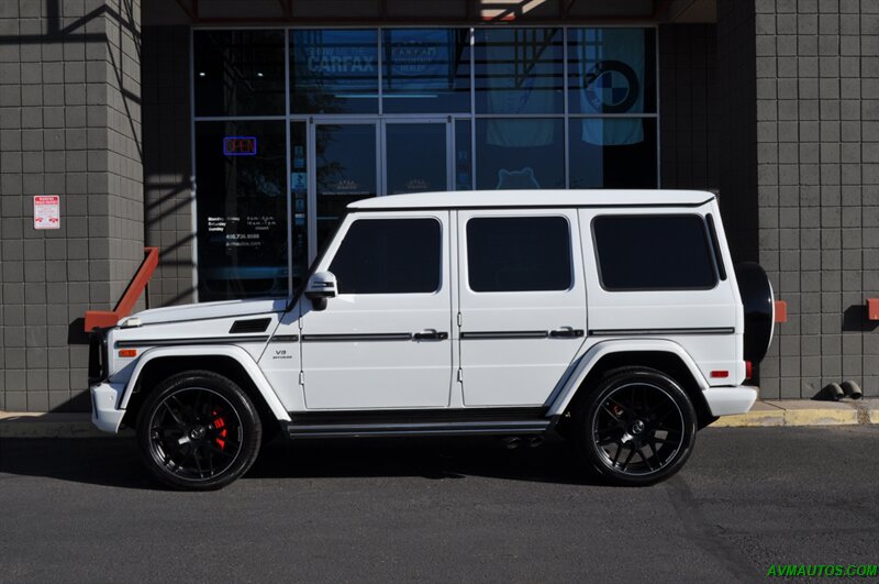
<path id="1" fill-rule="evenodd" d="M 879 423 L 879 398 L 858 401 L 786 399 L 757 401 L 747 414 L 724 416 L 714 428 L 775 426 L 854 426 Z M 133 436 L 131 429 L 123 436 Z M 112 437 L 91 425 L 90 414 L 0 411 L 0 438 Z"/>

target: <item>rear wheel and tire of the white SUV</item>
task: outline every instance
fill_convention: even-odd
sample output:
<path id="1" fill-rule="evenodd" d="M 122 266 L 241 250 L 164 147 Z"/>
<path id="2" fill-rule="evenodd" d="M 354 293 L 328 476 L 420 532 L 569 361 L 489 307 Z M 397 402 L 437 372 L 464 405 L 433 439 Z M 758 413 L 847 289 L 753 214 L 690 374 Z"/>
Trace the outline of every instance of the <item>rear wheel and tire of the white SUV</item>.
<path id="1" fill-rule="evenodd" d="M 609 482 L 645 486 L 677 473 L 696 444 L 690 398 L 646 367 L 610 372 L 575 411 L 578 450 Z"/>

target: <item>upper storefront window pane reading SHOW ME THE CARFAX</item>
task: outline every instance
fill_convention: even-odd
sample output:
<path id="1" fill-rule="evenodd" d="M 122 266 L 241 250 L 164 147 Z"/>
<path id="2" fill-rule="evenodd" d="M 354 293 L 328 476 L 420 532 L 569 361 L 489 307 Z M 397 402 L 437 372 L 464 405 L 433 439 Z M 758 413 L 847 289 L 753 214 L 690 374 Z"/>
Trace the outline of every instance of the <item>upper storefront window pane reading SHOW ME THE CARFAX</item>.
<path id="1" fill-rule="evenodd" d="M 292 113 L 378 113 L 378 31 L 290 31 Z"/>

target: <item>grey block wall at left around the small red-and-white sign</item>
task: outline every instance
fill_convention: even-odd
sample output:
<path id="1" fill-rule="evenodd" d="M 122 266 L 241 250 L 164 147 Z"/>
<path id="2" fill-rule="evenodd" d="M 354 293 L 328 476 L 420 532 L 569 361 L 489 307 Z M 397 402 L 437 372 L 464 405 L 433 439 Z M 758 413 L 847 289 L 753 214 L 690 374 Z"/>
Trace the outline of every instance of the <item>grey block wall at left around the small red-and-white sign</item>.
<path id="1" fill-rule="evenodd" d="M 0 409 L 88 408 L 81 318 L 143 258 L 140 12 L 0 2 Z M 33 229 L 35 195 L 60 229 Z"/>

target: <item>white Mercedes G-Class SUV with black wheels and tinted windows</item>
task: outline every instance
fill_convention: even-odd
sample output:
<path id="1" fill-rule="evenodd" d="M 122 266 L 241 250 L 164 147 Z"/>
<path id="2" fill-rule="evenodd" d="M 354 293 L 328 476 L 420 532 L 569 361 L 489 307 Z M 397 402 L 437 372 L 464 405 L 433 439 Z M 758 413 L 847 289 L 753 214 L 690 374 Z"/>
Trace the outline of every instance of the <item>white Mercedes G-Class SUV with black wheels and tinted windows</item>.
<path id="1" fill-rule="evenodd" d="M 555 431 L 611 482 L 677 472 L 747 411 L 772 290 L 714 195 L 436 192 L 352 203 L 291 298 L 96 330 L 93 421 L 163 483 L 218 488 L 260 442 Z M 743 305 L 744 302 L 744 305 Z"/>

